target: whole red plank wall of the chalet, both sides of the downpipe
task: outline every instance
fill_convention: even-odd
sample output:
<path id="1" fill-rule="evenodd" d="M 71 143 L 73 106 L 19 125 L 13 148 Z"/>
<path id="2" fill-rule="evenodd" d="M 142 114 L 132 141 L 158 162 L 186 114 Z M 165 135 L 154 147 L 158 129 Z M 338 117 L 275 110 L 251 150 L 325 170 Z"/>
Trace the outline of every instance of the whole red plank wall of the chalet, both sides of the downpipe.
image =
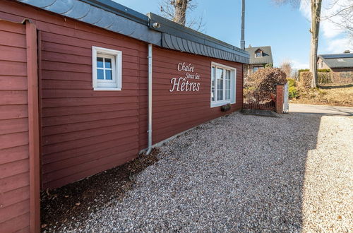
<path id="1" fill-rule="evenodd" d="M 40 37 L 42 184 L 54 188 L 121 165 L 147 147 L 148 44 L 13 1 L 0 2 L 0 18 L 30 18 Z M 92 46 L 123 52 L 121 91 L 92 90 Z M 199 92 L 169 92 L 179 62 L 201 75 Z M 153 48 L 153 143 L 224 114 L 210 108 L 210 64 L 241 64 Z"/>

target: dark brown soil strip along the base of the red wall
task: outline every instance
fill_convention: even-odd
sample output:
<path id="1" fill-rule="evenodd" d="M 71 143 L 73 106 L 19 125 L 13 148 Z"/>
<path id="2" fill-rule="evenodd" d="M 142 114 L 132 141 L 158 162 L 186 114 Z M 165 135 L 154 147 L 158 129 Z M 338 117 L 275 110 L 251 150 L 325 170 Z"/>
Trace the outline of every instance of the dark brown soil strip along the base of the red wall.
<path id="1" fill-rule="evenodd" d="M 59 189 L 41 192 L 42 232 L 57 225 L 85 220 L 90 213 L 109 206 L 112 199 L 121 200 L 133 189 L 133 176 L 158 161 L 159 150 L 131 162 L 95 174 Z"/>

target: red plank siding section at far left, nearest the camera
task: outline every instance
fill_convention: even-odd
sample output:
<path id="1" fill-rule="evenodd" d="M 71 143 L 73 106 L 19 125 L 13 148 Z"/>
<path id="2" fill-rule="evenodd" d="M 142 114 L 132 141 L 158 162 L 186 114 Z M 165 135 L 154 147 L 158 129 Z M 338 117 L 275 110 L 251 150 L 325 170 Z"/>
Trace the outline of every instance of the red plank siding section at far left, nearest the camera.
<path id="1" fill-rule="evenodd" d="M 25 25 L 0 20 L 0 49 L 0 232 L 26 232 L 30 167 Z"/>

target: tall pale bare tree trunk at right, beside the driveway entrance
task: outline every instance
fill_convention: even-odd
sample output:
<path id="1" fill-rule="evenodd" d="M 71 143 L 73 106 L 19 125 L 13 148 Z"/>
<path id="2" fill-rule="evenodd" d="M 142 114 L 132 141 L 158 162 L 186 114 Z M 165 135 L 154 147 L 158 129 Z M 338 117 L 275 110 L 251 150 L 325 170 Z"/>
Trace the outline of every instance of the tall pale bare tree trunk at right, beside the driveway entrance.
<path id="1" fill-rule="evenodd" d="M 299 0 L 273 0 L 277 4 L 292 4 L 298 6 Z M 302 0 L 304 1 L 304 0 Z M 311 43 L 310 43 L 310 64 L 309 68 L 311 73 L 313 73 L 313 81 L 311 82 L 311 87 L 315 88 L 318 85 L 318 32 L 320 31 L 320 21 L 321 21 L 321 5 L 322 0 L 307 0 L 310 1 L 311 9 L 311 28 L 309 32 L 311 33 Z"/>

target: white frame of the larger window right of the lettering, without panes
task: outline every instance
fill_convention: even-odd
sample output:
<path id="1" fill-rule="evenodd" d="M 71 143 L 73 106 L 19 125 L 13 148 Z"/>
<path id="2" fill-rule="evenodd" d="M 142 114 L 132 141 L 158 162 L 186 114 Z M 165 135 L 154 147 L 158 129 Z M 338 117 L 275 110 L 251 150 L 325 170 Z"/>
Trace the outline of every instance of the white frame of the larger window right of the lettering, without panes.
<path id="1" fill-rule="evenodd" d="M 212 100 L 212 68 L 215 67 L 215 101 Z M 217 100 L 217 68 L 223 68 L 223 100 Z M 230 71 L 230 100 L 225 100 L 226 90 L 226 70 Z M 235 104 L 237 102 L 237 68 L 225 66 L 223 64 L 211 62 L 211 77 L 210 77 L 210 107 L 220 107 L 225 104 Z"/>

